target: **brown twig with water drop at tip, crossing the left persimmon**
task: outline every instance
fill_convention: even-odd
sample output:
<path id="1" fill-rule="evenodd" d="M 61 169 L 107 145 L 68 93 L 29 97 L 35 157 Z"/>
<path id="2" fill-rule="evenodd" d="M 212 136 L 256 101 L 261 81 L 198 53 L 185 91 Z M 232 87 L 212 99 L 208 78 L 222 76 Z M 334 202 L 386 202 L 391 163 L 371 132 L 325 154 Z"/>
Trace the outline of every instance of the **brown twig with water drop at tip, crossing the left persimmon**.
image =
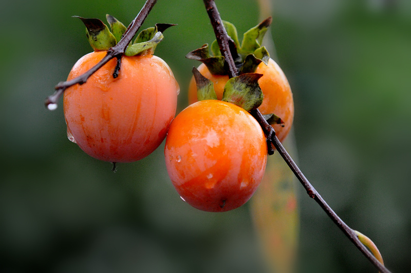
<path id="1" fill-rule="evenodd" d="M 59 98 L 63 95 L 64 90 L 74 84 L 83 84 L 87 81 L 87 79 L 93 75 L 97 70 L 99 70 L 103 65 L 105 65 L 109 60 L 121 56 L 124 53 L 125 49 L 127 48 L 128 44 L 132 41 L 134 35 L 136 35 L 137 31 L 143 24 L 144 20 L 146 19 L 148 13 L 153 9 L 154 5 L 156 4 L 157 0 L 147 0 L 144 6 L 141 8 L 140 12 L 133 20 L 132 23 L 127 27 L 126 31 L 123 34 L 121 40 L 115 45 L 114 47 L 110 47 L 107 50 L 106 56 L 101 59 L 95 66 L 91 67 L 87 72 L 83 75 L 80 75 L 77 78 L 74 78 L 70 81 L 60 82 L 58 83 L 54 89 L 55 92 L 53 95 L 47 97 L 45 101 L 45 105 L 49 109 L 55 109 L 55 107 L 49 107 L 49 105 L 57 105 Z M 120 69 L 120 66 L 118 66 Z M 117 66 L 116 66 L 117 68 Z M 114 75 L 113 75 L 114 76 Z M 118 76 L 118 75 L 117 75 Z M 116 78 L 116 77 L 115 77 Z"/>

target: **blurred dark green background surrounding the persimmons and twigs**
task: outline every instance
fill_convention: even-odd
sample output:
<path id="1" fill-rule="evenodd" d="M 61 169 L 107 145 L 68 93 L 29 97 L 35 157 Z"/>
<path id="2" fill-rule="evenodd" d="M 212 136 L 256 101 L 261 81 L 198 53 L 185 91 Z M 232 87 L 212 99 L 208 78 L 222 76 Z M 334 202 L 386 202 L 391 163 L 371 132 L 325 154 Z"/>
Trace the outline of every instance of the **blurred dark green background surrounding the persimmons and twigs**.
<path id="1" fill-rule="evenodd" d="M 62 105 L 54 112 L 43 105 L 91 51 L 84 26 L 70 16 L 104 20 L 109 13 L 127 25 L 143 3 L 2 1 L 1 272 L 267 272 L 248 205 L 217 214 L 182 202 L 163 145 L 114 174 L 67 140 Z M 217 6 L 239 33 L 258 23 L 257 1 Z M 411 2 L 276 0 L 273 15 L 302 171 L 349 226 L 379 246 L 388 268 L 409 272 Z M 143 27 L 155 23 L 178 24 L 156 54 L 180 82 L 181 111 L 199 65 L 184 56 L 214 33 L 200 0 L 159 0 Z M 375 272 L 297 189 L 298 272 Z"/>

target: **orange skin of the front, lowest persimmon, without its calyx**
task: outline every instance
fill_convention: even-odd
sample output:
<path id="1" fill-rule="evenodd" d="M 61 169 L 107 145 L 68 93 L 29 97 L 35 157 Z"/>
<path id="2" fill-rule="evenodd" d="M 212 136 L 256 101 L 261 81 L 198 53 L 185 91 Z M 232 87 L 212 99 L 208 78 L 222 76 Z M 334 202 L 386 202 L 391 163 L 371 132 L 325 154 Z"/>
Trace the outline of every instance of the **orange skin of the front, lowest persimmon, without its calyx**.
<path id="1" fill-rule="evenodd" d="M 245 204 L 263 178 L 267 143 L 258 122 L 228 102 L 203 100 L 173 120 L 164 148 L 180 196 L 212 212 Z"/>

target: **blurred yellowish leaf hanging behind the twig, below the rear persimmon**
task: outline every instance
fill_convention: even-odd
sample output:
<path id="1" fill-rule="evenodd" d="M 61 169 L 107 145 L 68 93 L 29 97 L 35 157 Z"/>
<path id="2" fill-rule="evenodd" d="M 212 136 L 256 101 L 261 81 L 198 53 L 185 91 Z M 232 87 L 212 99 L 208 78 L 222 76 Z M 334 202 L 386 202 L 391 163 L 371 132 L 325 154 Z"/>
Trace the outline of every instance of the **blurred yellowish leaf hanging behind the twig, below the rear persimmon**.
<path id="1" fill-rule="evenodd" d="M 284 144 L 292 152 L 290 135 Z M 264 178 L 251 199 L 251 213 L 269 271 L 292 273 L 299 221 L 294 174 L 283 161 L 276 153 L 268 157 Z"/>

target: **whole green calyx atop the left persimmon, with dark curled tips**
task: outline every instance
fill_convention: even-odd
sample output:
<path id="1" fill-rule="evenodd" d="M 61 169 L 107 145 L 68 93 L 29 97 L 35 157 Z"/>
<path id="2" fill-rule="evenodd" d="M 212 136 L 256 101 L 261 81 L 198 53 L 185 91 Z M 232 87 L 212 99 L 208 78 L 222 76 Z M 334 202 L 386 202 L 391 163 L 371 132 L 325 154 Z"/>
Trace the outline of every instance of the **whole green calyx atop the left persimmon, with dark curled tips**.
<path id="1" fill-rule="evenodd" d="M 94 51 L 105 51 L 110 47 L 115 46 L 122 38 L 127 28 L 118 21 L 114 16 L 106 14 L 106 19 L 110 25 L 111 31 L 100 20 L 96 18 L 83 18 L 73 16 L 83 21 L 86 26 L 86 35 Z M 175 26 L 175 24 L 156 24 L 155 27 L 150 27 L 142 30 L 134 43 L 130 43 L 125 50 L 126 56 L 136 56 L 153 54 L 158 43 L 164 38 L 162 32 L 167 28 Z"/>

